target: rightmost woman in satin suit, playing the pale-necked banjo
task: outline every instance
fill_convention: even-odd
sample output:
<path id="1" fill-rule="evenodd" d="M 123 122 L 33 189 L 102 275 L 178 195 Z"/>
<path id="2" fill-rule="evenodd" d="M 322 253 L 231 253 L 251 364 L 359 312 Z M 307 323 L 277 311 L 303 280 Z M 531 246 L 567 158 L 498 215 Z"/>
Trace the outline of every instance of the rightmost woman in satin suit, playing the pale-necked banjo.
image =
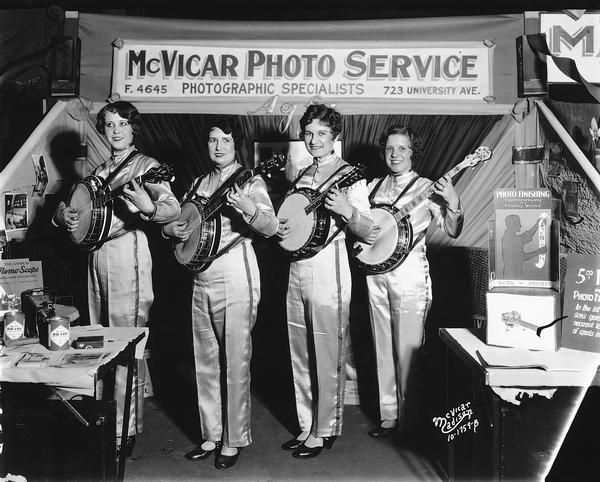
<path id="1" fill-rule="evenodd" d="M 391 126 L 381 136 L 380 149 L 388 174 L 381 183 L 381 179 L 369 183 L 371 204 L 391 204 L 402 194 L 396 204 L 401 208 L 431 184 L 413 171 L 413 163 L 421 155 L 419 139 L 408 127 Z M 373 438 L 396 433 L 399 442 L 410 443 L 414 436 L 421 403 L 419 352 L 431 304 L 424 235 L 435 219 L 448 236 L 456 238 L 464 219 L 460 199 L 449 177 L 435 183 L 434 193 L 437 196 L 432 195 L 410 213 L 416 244 L 404 262 L 390 272 L 367 275 L 381 420 L 369 431 Z M 380 228 L 374 226 L 368 241 L 374 242 L 379 234 Z"/>

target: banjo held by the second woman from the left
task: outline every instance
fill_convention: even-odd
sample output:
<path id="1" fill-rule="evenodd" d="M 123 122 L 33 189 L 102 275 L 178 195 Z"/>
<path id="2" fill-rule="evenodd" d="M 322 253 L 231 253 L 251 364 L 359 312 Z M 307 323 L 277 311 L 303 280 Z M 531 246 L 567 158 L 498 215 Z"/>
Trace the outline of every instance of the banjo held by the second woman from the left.
<path id="1" fill-rule="evenodd" d="M 231 182 L 228 182 L 229 179 L 225 181 L 210 198 L 192 196 L 191 199 L 185 201 L 181 205 L 181 215 L 178 221 L 186 222 L 187 228 L 192 229 L 193 232 L 187 240 L 173 245 L 173 253 L 177 262 L 191 271 L 202 272 L 221 254 L 237 244 L 239 237 L 219 250 L 221 242 L 220 211 L 225 205 L 225 194 L 233 184 L 242 187 L 254 176 L 268 175 L 271 171 L 283 168 L 285 163 L 285 156 L 275 154 L 254 169 L 239 169 L 229 178 Z"/>

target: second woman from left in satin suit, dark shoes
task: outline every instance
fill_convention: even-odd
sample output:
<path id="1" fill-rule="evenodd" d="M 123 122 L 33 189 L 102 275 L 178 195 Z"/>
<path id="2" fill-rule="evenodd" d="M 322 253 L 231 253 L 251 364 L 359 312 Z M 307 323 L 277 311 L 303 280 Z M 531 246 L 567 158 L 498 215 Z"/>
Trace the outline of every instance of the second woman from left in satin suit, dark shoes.
<path id="1" fill-rule="evenodd" d="M 240 126 L 233 118 L 211 120 L 207 144 L 214 168 L 194 181 L 188 195 L 209 198 L 235 175 L 242 167 L 235 153 L 241 139 Z M 241 188 L 233 185 L 226 191 L 226 207 L 221 211 L 219 250 L 237 242 L 194 276 L 192 325 L 203 440 L 186 458 L 201 460 L 215 453 L 217 469 L 233 466 L 242 447 L 252 442 L 251 330 L 260 300 L 252 232 L 270 237 L 276 231 L 277 218 L 263 179 L 255 176 Z M 184 221 L 163 228 L 166 236 L 180 241 L 192 232 Z"/>

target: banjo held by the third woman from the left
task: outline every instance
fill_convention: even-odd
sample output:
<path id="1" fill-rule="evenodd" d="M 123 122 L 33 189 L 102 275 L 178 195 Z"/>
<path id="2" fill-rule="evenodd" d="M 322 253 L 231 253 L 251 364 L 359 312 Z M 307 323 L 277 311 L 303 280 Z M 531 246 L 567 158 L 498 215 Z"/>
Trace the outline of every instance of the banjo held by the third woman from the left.
<path id="1" fill-rule="evenodd" d="M 308 187 L 293 190 L 287 194 L 277 212 L 279 219 L 293 219 L 293 232 L 279 245 L 293 259 L 310 258 L 327 243 L 331 226 L 331 215 L 323 206 L 327 193 L 332 187 L 347 187 L 364 178 L 365 166 L 357 164 L 346 171 L 326 189 Z"/>

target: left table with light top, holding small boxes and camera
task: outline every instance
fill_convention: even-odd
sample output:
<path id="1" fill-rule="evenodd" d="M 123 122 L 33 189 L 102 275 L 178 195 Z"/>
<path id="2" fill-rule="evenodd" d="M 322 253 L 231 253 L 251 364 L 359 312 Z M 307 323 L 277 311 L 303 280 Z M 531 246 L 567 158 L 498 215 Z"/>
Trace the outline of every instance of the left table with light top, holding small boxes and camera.
<path id="1" fill-rule="evenodd" d="M 134 364 L 143 353 L 147 329 L 100 327 L 86 334 L 90 332 L 104 336 L 104 348 L 70 349 L 65 353 L 106 353 L 98 363 L 37 368 L 23 368 L 17 363 L 0 371 L 0 422 L 4 436 L 0 469 L 4 473 L 28 478 L 28 472 L 37 471 L 38 476 L 56 474 L 59 479 L 124 479 L 126 454 L 121 451 L 117 457 L 116 453 L 115 374 L 118 365 L 127 367 L 121 431 L 121 446 L 125 446 Z M 52 353 L 39 345 L 20 348 L 24 354 L 32 350 Z M 62 390 L 68 390 L 69 397 Z M 38 430 L 36 424 L 46 430 Z M 36 442 L 36 431 L 43 434 L 41 440 L 46 446 Z M 83 461 L 73 456 L 73 448 Z"/>

